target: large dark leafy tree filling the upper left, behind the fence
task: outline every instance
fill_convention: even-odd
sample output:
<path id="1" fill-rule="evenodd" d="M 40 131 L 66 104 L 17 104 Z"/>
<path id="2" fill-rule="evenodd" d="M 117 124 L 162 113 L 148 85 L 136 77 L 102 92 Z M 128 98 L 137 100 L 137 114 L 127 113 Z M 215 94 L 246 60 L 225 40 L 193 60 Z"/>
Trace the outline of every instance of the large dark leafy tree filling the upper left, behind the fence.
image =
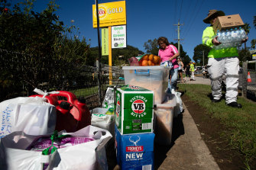
<path id="1" fill-rule="evenodd" d="M 0 80 L 14 86 L 25 82 L 31 89 L 42 82 L 53 86 L 67 82 L 73 78 L 74 65 L 90 61 L 89 45 L 84 38 L 79 40 L 76 27 L 64 27 L 59 21 L 54 0 L 41 13 L 33 7 L 34 0 L 0 2 L 0 50 L 17 53 L 3 55 Z"/>

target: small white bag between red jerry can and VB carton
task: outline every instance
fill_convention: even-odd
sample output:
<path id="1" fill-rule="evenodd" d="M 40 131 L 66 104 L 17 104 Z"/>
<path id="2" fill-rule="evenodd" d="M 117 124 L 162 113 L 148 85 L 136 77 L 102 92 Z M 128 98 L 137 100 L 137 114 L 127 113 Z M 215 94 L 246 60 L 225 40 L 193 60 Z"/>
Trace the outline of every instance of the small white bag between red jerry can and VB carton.
<path id="1" fill-rule="evenodd" d="M 102 128 L 104 130 L 108 130 L 112 136 L 115 136 L 115 121 L 114 121 L 114 114 L 109 115 L 105 114 L 109 109 L 96 107 L 92 109 L 92 126 Z"/>

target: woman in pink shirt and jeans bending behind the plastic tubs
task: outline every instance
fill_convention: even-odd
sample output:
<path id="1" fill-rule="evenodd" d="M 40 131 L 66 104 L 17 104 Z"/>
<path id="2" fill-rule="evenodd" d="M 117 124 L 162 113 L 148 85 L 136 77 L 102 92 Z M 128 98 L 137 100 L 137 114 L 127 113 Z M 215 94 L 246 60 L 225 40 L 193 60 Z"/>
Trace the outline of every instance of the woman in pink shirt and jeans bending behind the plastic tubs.
<path id="1" fill-rule="evenodd" d="M 177 57 L 180 56 L 180 53 L 178 52 L 175 46 L 171 45 L 168 42 L 167 37 L 159 37 L 157 40 L 157 43 L 160 48 L 158 51 L 158 56 L 160 56 L 160 59 L 161 59 L 160 65 L 170 66 L 168 88 L 170 88 L 170 91 L 172 89 L 175 91 L 177 88 L 178 69 L 179 69 Z"/>

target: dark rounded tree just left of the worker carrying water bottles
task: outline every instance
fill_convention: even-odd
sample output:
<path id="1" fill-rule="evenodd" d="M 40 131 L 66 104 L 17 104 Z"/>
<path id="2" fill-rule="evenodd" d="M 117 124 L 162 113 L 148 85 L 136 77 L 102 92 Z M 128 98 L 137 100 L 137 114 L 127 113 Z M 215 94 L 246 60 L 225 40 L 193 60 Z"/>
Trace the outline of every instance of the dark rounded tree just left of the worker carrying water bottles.
<path id="1" fill-rule="evenodd" d="M 208 63 L 208 53 L 211 50 L 211 47 L 206 46 L 205 44 L 199 44 L 194 48 L 194 56 L 193 59 L 196 63 L 200 63 L 203 66 L 203 56 L 204 56 L 204 64 Z"/>

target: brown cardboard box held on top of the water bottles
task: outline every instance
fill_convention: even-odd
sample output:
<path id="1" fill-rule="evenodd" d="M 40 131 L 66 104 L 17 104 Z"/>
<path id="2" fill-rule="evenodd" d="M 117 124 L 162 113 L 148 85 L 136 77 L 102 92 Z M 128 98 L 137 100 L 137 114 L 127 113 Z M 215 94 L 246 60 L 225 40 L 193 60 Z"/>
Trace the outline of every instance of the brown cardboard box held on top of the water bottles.
<path id="1" fill-rule="evenodd" d="M 244 25 L 245 24 L 241 20 L 239 14 L 232 14 L 218 17 L 215 23 L 213 24 L 213 30 L 216 34 L 217 30 L 227 30 L 234 27 L 242 27 Z"/>

